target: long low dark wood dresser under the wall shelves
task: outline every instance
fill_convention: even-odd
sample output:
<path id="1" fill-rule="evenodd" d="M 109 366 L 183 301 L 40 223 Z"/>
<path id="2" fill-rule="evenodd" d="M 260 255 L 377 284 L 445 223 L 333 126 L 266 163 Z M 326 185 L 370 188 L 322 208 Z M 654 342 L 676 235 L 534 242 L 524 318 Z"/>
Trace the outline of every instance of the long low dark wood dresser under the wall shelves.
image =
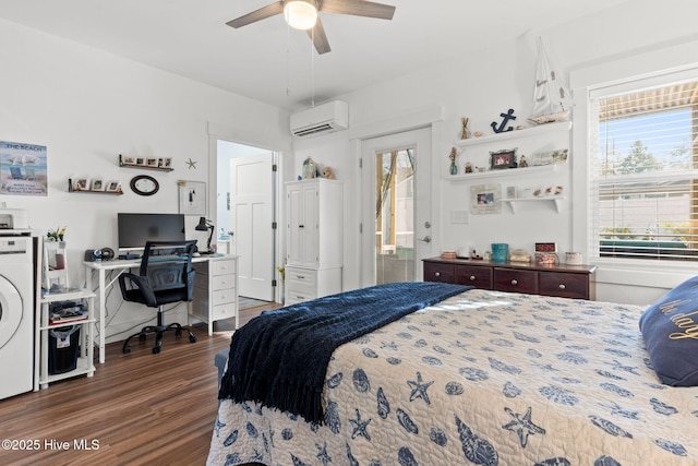
<path id="1" fill-rule="evenodd" d="M 424 259 L 423 262 L 424 282 L 455 283 L 529 295 L 595 299 L 595 283 L 591 279 L 597 271 L 595 265 L 496 263 L 441 258 Z"/>

